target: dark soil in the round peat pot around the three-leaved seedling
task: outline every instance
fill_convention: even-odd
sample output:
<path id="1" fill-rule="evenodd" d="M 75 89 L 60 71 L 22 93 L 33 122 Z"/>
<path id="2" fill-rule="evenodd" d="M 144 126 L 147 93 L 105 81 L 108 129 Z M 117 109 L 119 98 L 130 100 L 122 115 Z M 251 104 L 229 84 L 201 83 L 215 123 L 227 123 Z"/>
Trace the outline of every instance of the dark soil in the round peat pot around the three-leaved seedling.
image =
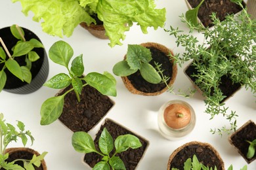
<path id="1" fill-rule="evenodd" d="M 153 67 L 156 66 L 154 62 L 161 64 L 161 69 L 164 70 L 163 75 L 171 77 L 173 74 L 173 64 L 170 62 L 169 57 L 156 48 L 149 49 L 152 54 L 152 60 L 150 61 L 150 64 L 153 65 Z M 127 76 L 127 78 L 131 81 L 131 84 L 133 84 L 133 86 L 137 90 L 144 93 L 159 92 L 166 87 L 164 83 L 152 84 L 150 82 L 147 82 L 140 75 L 140 71 L 137 71 L 136 73 Z M 167 84 L 169 84 L 169 81 L 170 79 L 167 81 Z"/>

